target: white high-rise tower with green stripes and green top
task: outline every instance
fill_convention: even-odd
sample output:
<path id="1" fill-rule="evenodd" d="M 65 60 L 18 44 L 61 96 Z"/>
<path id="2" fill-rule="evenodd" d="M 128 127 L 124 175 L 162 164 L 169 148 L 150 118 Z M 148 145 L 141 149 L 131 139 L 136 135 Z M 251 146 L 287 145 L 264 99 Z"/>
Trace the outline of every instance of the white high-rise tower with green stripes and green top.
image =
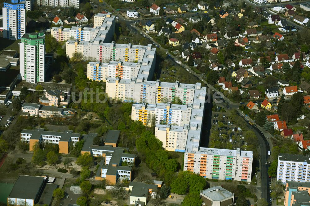
<path id="1" fill-rule="evenodd" d="M 21 38 L 20 75 L 31 84 L 45 79 L 45 35 L 43 32 L 27 33 Z"/>

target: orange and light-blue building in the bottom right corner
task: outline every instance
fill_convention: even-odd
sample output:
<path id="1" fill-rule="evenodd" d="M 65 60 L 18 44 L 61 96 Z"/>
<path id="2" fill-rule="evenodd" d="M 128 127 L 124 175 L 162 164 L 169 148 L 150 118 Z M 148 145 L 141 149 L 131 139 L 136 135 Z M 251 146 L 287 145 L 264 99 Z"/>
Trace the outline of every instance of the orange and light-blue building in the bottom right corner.
<path id="1" fill-rule="evenodd" d="M 309 205 L 310 182 L 286 181 L 284 192 L 284 205 Z"/>

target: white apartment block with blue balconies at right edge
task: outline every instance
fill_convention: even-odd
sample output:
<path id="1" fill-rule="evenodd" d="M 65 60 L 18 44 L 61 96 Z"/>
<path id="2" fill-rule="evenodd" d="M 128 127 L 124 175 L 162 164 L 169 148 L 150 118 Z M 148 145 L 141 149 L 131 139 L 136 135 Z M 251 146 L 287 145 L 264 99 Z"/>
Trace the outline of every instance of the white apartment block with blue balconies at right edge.
<path id="1" fill-rule="evenodd" d="M 280 153 L 278 157 L 277 180 L 310 182 L 310 156 Z"/>

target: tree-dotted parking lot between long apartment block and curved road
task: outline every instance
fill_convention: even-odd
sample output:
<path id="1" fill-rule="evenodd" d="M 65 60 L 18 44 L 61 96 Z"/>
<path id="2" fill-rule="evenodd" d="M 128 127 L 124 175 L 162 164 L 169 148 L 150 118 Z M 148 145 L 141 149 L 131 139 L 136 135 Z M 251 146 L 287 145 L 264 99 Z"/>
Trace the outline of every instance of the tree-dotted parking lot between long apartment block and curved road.
<path id="1" fill-rule="evenodd" d="M 211 119 L 212 129 L 211 134 L 218 134 L 218 139 L 210 141 L 219 141 L 222 143 L 231 143 L 227 149 L 241 148 L 246 150 L 247 143 L 243 136 L 243 131 L 230 120 L 227 113 L 212 112 Z"/>

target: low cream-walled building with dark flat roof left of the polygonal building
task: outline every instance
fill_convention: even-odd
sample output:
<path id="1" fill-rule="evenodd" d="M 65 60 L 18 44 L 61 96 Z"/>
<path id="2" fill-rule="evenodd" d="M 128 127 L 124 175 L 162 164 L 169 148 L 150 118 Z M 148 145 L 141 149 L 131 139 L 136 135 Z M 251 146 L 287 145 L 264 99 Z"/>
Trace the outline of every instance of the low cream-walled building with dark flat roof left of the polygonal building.
<path id="1" fill-rule="evenodd" d="M 136 201 L 144 202 L 146 205 L 151 198 L 156 197 L 157 185 L 146 184 L 142 182 L 130 182 L 129 183 L 130 193 L 130 204 L 135 204 Z"/>

